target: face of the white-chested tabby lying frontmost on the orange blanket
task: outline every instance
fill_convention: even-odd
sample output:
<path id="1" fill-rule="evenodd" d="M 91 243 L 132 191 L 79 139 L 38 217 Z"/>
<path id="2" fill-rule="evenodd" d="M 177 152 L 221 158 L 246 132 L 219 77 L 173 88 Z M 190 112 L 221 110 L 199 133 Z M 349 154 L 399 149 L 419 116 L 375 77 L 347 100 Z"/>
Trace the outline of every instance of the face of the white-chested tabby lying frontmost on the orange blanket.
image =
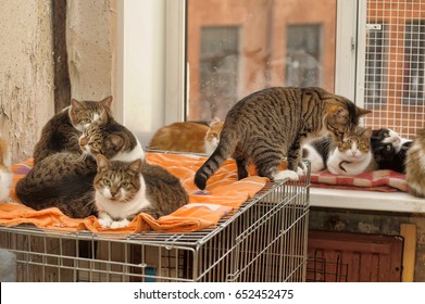
<path id="1" fill-rule="evenodd" d="M 126 203 L 135 199 L 141 190 L 141 160 L 130 163 L 110 162 L 99 154 L 97 156 L 98 173 L 93 187 L 98 195 L 109 202 Z"/>

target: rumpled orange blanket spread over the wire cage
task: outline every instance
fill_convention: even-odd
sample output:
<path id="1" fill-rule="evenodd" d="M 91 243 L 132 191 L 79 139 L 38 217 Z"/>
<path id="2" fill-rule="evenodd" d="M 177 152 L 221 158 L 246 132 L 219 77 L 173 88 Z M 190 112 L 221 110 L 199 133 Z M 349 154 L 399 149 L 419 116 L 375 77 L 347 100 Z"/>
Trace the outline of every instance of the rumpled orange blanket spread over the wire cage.
<path id="1" fill-rule="evenodd" d="M 234 161 L 225 162 L 220 170 L 210 178 L 208 194 L 197 194 L 193 183 L 196 170 L 205 161 L 204 157 L 183 155 L 147 153 L 150 164 L 166 168 L 182 180 L 182 185 L 189 193 L 189 204 L 178 208 L 174 213 L 154 219 L 148 214 L 139 214 L 125 228 L 101 228 L 95 216 L 87 218 L 70 218 L 55 207 L 35 211 L 22 204 L 0 204 L 0 225 L 15 226 L 20 224 L 34 224 L 41 228 L 62 230 L 90 230 L 92 232 L 118 232 L 132 233 L 153 229 L 163 232 L 189 232 L 198 231 L 215 225 L 223 216 L 234 208 L 238 208 L 243 202 L 251 199 L 266 183 L 267 179 L 259 176 L 250 176 L 237 180 L 236 165 Z M 13 185 L 11 199 L 18 202 L 14 188 L 32 168 L 33 160 L 13 165 Z"/>

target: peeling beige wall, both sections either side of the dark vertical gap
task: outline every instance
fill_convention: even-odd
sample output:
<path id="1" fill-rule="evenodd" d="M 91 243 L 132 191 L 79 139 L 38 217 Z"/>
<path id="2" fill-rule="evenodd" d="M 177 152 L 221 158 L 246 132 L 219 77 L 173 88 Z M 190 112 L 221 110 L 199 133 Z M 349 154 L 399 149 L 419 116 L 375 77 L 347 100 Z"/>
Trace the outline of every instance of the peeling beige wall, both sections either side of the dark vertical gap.
<path id="1" fill-rule="evenodd" d="M 0 126 L 8 129 L 15 163 L 33 154 L 54 114 L 52 10 L 51 0 L 0 4 Z M 72 0 L 67 10 L 72 97 L 114 96 L 116 0 Z"/>

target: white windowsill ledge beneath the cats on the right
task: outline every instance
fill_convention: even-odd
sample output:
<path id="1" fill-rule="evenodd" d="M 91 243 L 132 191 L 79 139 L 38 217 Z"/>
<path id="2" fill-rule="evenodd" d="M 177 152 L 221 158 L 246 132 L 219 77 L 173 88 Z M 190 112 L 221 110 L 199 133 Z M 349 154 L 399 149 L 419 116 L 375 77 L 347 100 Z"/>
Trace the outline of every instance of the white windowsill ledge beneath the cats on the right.
<path id="1" fill-rule="evenodd" d="M 310 188 L 310 205 L 314 207 L 425 213 L 425 199 L 404 192 L 373 192 Z"/>

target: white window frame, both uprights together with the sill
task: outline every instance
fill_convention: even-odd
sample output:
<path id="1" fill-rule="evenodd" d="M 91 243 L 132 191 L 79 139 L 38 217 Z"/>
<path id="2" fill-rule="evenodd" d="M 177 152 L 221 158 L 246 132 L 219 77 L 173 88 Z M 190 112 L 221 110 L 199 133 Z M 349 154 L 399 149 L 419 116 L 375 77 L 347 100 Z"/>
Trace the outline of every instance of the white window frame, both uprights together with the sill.
<path id="1" fill-rule="evenodd" d="M 366 0 L 337 1 L 335 93 L 363 106 Z M 118 1 L 115 110 L 142 145 L 161 126 L 185 118 L 185 5 L 186 0 Z M 311 205 L 425 213 L 423 200 L 407 193 L 312 188 Z"/>

